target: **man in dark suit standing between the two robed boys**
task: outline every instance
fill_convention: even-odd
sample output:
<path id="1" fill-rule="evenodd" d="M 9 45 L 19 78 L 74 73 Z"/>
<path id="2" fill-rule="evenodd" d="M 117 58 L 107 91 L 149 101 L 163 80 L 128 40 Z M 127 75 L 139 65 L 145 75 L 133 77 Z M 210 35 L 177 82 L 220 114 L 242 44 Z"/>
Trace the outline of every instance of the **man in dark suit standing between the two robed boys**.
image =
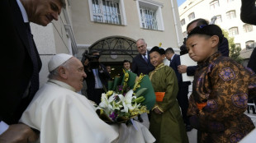
<path id="1" fill-rule="evenodd" d="M 186 124 L 186 130 L 191 131 L 192 127 L 187 118 L 187 108 L 188 108 L 188 85 L 191 84 L 190 81 L 184 81 L 182 74 L 178 72 L 178 66 L 181 64 L 180 57 L 178 54 L 175 54 L 173 48 L 167 48 L 165 50 L 165 57 L 170 61 L 170 67 L 173 68 L 178 79 L 178 95 L 177 100 L 178 104 L 182 109 L 183 121 Z"/>

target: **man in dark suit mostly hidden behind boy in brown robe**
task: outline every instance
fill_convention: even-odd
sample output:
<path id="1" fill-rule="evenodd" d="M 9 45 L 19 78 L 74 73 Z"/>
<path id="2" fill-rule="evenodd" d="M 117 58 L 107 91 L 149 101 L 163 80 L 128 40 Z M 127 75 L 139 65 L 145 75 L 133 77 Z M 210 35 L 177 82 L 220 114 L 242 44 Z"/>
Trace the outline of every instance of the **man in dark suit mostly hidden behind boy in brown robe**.
<path id="1" fill-rule="evenodd" d="M 187 35 L 195 27 L 197 27 L 199 25 L 208 25 L 208 24 L 209 24 L 208 21 L 206 21 L 205 19 L 201 19 L 201 18 L 190 22 L 189 24 L 187 24 Z M 184 43 L 185 43 L 185 41 L 184 41 Z M 222 42 L 220 43 L 220 45 L 218 47 L 218 51 L 222 54 L 222 56 L 229 57 L 229 53 L 230 53 L 229 42 L 225 37 L 222 40 Z M 196 70 L 197 70 L 197 66 L 188 66 L 188 67 L 186 65 L 178 66 L 178 71 L 181 73 L 187 72 L 187 76 L 194 76 Z"/>

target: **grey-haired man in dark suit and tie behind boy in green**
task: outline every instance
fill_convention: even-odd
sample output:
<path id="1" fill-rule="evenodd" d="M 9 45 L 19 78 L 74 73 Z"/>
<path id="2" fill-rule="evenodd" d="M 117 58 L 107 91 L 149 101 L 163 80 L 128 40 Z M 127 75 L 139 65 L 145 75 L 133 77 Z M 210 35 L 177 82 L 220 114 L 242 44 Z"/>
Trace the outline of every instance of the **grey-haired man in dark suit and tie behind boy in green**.
<path id="1" fill-rule="evenodd" d="M 138 39 L 136 42 L 138 54 L 132 59 L 131 71 L 135 72 L 138 76 L 140 73 L 148 75 L 150 71 L 154 70 L 154 66 L 150 63 L 149 51 L 145 39 Z"/>

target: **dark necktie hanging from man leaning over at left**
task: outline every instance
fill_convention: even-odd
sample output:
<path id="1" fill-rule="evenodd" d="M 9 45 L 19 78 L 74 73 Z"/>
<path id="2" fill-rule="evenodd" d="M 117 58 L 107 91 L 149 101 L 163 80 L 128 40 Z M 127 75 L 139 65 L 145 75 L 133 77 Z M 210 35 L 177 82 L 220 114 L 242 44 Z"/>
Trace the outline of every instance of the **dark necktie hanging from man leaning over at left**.
<path id="1" fill-rule="evenodd" d="M 33 35 L 31 34 L 31 26 L 27 22 L 26 25 L 26 31 L 27 31 L 27 38 L 30 46 L 30 52 L 31 52 L 31 60 L 33 63 L 33 72 L 31 76 L 31 87 L 30 87 L 30 93 L 29 97 L 33 97 L 36 94 L 36 91 L 39 89 L 39 71 L 38 71 L 38 59 L 36 57 L 36 49 L 33 42 Z"/>

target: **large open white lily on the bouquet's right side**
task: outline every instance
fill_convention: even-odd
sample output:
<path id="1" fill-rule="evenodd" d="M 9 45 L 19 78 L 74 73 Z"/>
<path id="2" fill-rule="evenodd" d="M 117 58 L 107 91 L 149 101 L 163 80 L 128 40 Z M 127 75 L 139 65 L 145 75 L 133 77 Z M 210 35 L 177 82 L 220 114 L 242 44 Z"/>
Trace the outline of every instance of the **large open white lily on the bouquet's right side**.
<path id="1" fill-rule="evenodd" d="M 123 95 L 118 95 L 119 98 L 121 99 L 121 102 L 123 104 L 124 109 L 121 110 L 121 112 L 126 112 L 128 113 L 129 109 L 132 108 L 131 106 L 131 100 L 136 98 L 135 96 L 132 95 L 133 94 L 133 90 L 129 90 L 126 93 L 126 96 Z"/>

